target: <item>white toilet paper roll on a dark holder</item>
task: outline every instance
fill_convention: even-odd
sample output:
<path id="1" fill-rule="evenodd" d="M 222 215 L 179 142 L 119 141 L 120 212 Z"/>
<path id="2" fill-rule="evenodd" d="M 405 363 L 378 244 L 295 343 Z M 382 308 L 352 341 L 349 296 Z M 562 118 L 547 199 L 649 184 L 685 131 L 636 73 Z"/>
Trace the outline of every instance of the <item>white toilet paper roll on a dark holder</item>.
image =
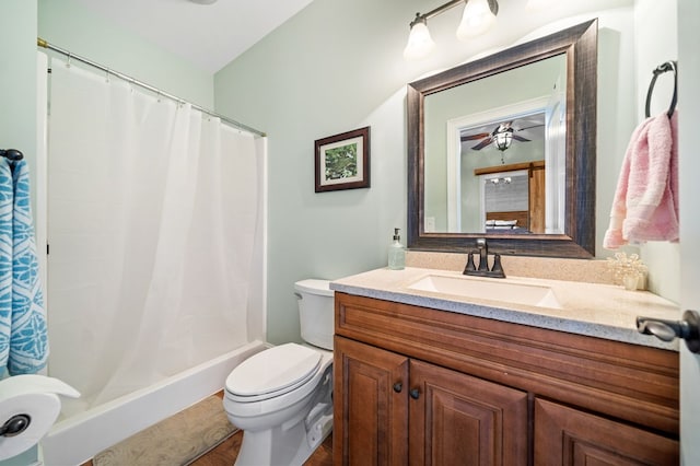
<path id="1" fill-rule="evenodd" d="M 54 426 L 60 410 L 61 401 L 52 393 L 27 393 L 0 399 L 0 426 L 16 415 L 30 418 L 24 431 L 0 436 L 0 459 L 11 458 L 36 445 Z"/>

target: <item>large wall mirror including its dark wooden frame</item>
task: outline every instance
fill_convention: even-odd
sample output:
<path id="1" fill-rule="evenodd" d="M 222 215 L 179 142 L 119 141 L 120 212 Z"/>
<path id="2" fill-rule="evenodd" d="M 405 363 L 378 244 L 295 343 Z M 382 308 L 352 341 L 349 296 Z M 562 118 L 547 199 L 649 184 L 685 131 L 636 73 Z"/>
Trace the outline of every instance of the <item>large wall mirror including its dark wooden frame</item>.
<path id="1" fill-rule="evenodd" d="M 408 246 L 592 257 L 597 23 L 408 85 Z"/>

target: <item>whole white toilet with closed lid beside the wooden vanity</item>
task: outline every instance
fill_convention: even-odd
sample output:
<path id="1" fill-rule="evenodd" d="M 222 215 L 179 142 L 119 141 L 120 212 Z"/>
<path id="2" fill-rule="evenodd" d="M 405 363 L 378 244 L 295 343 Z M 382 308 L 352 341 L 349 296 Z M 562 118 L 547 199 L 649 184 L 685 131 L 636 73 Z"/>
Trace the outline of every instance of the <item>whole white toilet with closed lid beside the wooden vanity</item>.
<path id="1" fill-rule="evenodd" d="M 334 292 L 294 283 L 302 338 L 261 351 L 226 378 L 223 407 L 243 430 L 236 466 L 302 465 L 332 427 Z"/>

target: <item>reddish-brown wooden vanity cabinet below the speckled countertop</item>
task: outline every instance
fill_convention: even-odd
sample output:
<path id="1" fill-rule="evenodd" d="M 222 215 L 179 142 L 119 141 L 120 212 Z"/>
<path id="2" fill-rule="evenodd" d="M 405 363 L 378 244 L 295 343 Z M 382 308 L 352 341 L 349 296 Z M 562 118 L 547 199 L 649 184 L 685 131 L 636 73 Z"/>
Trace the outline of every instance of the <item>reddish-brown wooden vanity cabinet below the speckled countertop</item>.
<path id="1" fill-rule="evenodd" d="M 336 292 L 336 465 L 673 465 L 678 354 Z"/>

